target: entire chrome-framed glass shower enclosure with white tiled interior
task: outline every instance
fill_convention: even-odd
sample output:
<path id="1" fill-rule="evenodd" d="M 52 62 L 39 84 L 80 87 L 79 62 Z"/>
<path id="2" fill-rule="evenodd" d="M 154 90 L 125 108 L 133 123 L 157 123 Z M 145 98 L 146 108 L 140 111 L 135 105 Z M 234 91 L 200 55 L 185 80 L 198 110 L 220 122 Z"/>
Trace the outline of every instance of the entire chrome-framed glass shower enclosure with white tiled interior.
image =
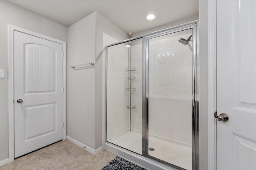
<path id="1" fill-rule="evenodd" d="M 196 24 L 106 46 L 106 143 L 198 169 Z"/>

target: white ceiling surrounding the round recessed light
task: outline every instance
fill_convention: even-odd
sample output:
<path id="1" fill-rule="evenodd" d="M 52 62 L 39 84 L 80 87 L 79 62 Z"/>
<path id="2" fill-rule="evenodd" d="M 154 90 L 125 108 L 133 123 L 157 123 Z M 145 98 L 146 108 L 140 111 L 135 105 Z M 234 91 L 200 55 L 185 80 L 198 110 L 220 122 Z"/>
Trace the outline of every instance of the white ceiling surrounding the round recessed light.
<path id="1" fill-rule="evenodd" d="M 126 32 L 139 32 L 191 16 L 198 16 L 198 0 L 7 0 L 65 26 L 94 11 Z M 146 20 L 146 14 L 156 19 Z"/>

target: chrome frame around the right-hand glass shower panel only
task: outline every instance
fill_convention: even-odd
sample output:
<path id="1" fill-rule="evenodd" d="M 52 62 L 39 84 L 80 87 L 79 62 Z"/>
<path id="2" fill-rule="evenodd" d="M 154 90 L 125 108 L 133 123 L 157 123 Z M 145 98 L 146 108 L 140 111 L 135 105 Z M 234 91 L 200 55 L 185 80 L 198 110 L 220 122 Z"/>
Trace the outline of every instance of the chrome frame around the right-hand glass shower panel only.
<path id="1" fill-rule="evenodd" d="M 164 35 L 168 35 L 171 33 L 176 33 L 179 31 L 184 31 L 186 29 L 192 29 L 193 35 L 193 60 L 192 60 L 192 91 L 193 91 L 193 99 L 192 99 L 192 170 L 198 170 L 199 168 L 199 67 L 198 67 L 198 27 L 197 23 L 186 25 L 183 27 L 178 27 L 176 29 L 169 29 L 168 31 L 162 31 L 154 34 L 147 35 L 143 37 L 143 61 L 142 61 L 142 156 L 146 156 L 148 158 L 154 159 L 158 162 L 166 164 L 168 166 L 172 166 L 179 170 L 184 170 L 179 166 L 174 164 L 170 164 L 148 154 L 148 75 L 149 75 L 149 39 L 161 37 Z M 144 126 L 146 125 L 146 126 Z"/>

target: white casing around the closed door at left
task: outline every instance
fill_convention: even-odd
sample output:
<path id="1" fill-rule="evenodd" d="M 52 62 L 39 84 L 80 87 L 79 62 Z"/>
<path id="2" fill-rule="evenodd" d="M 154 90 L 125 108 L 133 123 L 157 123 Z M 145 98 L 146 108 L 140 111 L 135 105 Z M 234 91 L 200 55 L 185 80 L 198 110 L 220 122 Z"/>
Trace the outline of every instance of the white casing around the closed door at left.
<path id="1" fill-rule="evenodd" d="M 8 69 L 8 118 L 9 118 L 9 162 L 14 160 L 14 31 L 19 31 L 21 33 L 26 33 L 38 38 L 53 41 L 62 44 L 63 55 L 63 82 L 62 86 L 64 88 L 63 92 L 63 137 L 66 139 L 66 42 L 48 37 L 39 33 L 29 31 L 14 25 L 8 25 L 8 35 L 9 35 L 9 45 L 8 45 L 8 57 L 9 57 L 9 69 Z"/>

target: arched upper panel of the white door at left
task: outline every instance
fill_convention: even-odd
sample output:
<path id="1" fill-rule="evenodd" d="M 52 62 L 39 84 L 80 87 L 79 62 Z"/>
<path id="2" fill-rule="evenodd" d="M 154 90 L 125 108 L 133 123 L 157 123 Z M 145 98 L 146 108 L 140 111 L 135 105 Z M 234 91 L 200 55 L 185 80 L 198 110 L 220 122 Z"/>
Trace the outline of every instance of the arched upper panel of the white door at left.
<path id="1" fill-rule="evenodd" d="M 54 92 L 56 53 L 43 45 L 24 44 L 25 94 Z"/>

